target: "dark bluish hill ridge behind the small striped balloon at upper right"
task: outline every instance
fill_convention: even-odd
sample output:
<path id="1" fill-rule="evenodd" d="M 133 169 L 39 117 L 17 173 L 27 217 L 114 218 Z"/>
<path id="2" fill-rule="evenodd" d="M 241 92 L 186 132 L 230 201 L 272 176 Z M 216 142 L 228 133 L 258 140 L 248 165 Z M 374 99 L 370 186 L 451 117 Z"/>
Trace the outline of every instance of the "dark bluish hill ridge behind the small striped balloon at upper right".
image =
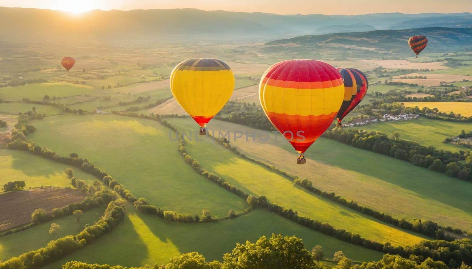
<path id="1" fill-rule="evenodd" d="M 266 45 L 296 43 L 302 46 L 315 46 L 323 43 L 334 43 L 354 45 L 361 48 L 385 49 L 389 51 L 409 51 L 408 46 L 405 45 L 408 38 L 418 34 L 423 34 L 428 37 L 428 49 L 430 49 L 430 51 L 472 49 L 472 28 L 447 27 L 304 35 L 295 38 L 270 41 L 267 42 Z"/>

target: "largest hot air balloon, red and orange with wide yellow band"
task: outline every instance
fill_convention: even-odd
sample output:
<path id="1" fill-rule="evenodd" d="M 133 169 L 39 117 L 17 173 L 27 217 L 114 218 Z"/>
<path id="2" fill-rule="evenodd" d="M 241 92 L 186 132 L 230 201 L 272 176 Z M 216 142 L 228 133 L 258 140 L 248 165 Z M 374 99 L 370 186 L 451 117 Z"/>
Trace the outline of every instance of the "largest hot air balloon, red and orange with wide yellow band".
<path id="1" fill-rule="evenodd" d="M 333 66 L 315 60 L 287 60 L 262 75 L 259 100 L 270 122 L 298 152 L 328 129 L 341 107 L 344 82 Z"/>

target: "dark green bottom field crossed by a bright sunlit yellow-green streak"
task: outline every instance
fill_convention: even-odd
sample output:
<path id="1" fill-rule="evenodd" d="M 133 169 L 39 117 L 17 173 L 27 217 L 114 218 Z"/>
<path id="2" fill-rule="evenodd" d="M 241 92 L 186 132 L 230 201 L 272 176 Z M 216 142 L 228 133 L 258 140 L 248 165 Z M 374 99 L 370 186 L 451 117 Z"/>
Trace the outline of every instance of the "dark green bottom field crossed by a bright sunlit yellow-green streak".
<path id="1" fill-rule="evenodd" d="M 231 252 L 236 243 L 244 244 L 246 240 L 255 243 L 259 237 L 272 233 L 300 237 L 310 250 L 315 245 L 321 245 L 328 259 L 332 259 L 339 250 L 354 261 L 377 261 L 383 255 L 323 235 L 262 209 L 236 219 L 192 224 L 169 223 L 155 216 L 136 213 L 130 208 L 125 220 L 109 234 L 44 268 L 60 269 L 67 261 L 126 267 L 165 264 L 174 256 L 193 251 L 203 254 L 207 261 L 222 261 L 223 254 Z"/>

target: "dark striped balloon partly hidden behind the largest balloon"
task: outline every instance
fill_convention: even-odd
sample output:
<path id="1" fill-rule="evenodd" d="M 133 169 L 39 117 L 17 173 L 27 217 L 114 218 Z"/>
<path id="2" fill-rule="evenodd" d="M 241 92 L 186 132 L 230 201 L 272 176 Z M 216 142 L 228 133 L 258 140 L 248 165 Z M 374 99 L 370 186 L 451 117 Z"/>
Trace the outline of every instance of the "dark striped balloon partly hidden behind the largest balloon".
<path id="1" fill-rule="evenodd" d="M 341 121 L 351 112 L 364 98 L 367 93 L 367 77 L 361 71 L 354 68 L 337 68 L 344 81 L 344 99 L 337 113 L 337 126 L 341 127 Z"/>

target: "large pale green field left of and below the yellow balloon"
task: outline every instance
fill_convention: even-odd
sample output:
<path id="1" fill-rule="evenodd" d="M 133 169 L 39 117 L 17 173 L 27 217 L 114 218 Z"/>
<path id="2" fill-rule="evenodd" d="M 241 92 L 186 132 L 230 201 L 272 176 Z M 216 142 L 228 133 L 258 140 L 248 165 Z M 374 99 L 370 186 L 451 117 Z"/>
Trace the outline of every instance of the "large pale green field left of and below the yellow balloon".
<path id="1" fill-rule="evenodd" d="M 117 115 L 60 115 L 32 122 L 28 139 L 60 155 L 76 152 L 117 179 L 136 197 L 164 210 L 226 216 L 246 201 L 193 171 L 178 141 L 159 122 Z M 173 134 L 175 139 L 175 134 Z"/>

